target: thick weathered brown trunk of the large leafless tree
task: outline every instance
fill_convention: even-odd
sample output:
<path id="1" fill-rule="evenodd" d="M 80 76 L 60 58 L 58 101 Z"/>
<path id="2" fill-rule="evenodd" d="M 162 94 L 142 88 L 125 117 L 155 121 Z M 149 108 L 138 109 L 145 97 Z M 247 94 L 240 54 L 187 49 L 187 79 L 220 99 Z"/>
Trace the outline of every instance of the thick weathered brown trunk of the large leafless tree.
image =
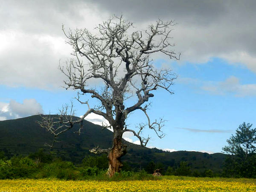
<path id="1" fill-rule="evenodd" d="M 121 157 L 126 154 L 126 145 L 122 143 L 122 132 L 114 130 L 113 147 L 108 154 L 108 176 L 113 177 L 116 172 L 120 172 L 122 163 Z"/>

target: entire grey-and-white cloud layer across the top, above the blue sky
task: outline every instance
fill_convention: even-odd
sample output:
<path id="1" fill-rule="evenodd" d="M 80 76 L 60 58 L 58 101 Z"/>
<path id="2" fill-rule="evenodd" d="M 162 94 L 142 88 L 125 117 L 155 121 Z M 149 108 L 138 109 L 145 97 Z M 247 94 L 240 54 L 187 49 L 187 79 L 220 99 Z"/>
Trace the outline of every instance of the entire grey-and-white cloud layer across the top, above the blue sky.
<path id="1" fill-rule="evenodd" d="M 256 1 L 238 0 L 0 0 L 0 84 L 61 85 L 58 60 L 70 56 L 66 29 L 93 29 L 123 14 L 144 29 L 158 18 L 175 20 L 172 32 L 181 62 L 212 57 L 256 72 Z M 11 58 L 11 59 L 10 59 Z M 40 73 L 39 73 L 40 72 Z M 41 79 L 45 77 L 44 81 Z M 57 83 L 58 82 L 58 83 Z"/>

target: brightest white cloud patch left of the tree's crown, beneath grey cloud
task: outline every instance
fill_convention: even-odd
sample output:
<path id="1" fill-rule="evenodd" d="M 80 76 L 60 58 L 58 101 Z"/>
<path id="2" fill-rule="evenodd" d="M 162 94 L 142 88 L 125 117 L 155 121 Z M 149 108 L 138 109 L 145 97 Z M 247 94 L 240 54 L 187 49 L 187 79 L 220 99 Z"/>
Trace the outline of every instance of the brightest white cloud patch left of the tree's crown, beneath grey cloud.
<path id="1" fill-rule="evenodd" d="M 60 87 L 64 76 L 58 70 L 58 61 L 70 54 L 64 38 L 6 31 L 0 32 L 0 40 L 9 39 L 9 33 L 12 38 L 8 44 L 0 46 L 1 84 L 41 89 Z"/>

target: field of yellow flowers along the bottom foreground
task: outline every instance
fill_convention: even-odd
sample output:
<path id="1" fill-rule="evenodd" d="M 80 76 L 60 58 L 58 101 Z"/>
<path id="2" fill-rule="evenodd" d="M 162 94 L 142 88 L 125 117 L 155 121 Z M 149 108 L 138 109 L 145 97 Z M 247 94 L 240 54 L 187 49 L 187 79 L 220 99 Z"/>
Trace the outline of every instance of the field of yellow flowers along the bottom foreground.
<path id="1" fill-rule="evenodd" d="M 0 180 L 0 192 L 256 192 L 254 183 L 202 180 Z"/>

